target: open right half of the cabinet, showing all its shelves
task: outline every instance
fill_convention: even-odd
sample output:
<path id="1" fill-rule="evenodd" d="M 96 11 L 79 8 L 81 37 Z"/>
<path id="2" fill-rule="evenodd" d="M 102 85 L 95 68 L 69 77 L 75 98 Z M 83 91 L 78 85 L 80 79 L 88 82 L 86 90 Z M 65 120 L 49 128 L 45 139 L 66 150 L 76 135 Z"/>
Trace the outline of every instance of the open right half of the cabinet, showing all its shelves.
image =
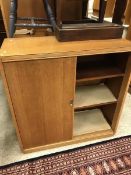
<path id="1" fill-rule="evenodd" d="M 77 57 L 73 136 L 112 129 L 128 56 Z"/>

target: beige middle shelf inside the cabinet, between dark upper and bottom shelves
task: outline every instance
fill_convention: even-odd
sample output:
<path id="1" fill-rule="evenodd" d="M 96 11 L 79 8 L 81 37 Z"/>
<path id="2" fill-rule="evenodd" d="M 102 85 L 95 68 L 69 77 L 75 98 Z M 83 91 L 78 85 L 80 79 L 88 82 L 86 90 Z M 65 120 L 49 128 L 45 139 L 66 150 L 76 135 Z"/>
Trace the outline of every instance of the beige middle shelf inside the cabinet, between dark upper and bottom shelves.
<path id="1" fill-rule="evenodd" d="M 116 101 L 117 99 L 105 84 L 78 86 L 74 108 L 91 107 Z"/>

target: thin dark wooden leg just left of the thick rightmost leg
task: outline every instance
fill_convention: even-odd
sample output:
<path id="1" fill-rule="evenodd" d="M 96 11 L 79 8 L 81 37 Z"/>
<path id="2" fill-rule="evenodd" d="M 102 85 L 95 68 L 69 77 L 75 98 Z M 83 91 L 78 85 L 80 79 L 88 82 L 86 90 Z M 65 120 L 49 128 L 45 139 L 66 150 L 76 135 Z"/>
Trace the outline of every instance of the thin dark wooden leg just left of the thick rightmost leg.
<path id="1" fill-rule="evenodd" d="M 104 21 L 106 4 L 107 4 L 107 0 L 100 0 L 100 5 L 99 5 L 99 22 L 100 23 L 103 23 Z"/>

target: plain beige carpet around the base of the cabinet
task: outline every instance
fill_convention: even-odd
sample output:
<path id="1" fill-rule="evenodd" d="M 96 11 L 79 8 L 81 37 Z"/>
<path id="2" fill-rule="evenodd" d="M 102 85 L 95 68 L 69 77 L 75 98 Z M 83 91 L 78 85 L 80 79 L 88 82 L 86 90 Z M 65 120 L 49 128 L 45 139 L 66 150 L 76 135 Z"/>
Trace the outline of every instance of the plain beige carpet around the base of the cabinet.
<path id="1" fill-rule="evenodd" d="M 126 136 L 126 135 L 131 135 L 131 95 L 129 94 L 127 95 L 126 98 L 117 134 L 114 137 Z M 84 142 L 81 144 L 45 150 L 32 154 L 23 154 L 19 148 L 15 129 L 11 121 L 11 116 L 7 105 L 7 100 L 4 93 L 2 81 L 0 80 L 0 166 L 21 161 L 24 159 L 29 159 L 58 151 L 75 148 L 78 146 L 84 146 L 86 144 L 95 143 L 110 138 Z"/>

